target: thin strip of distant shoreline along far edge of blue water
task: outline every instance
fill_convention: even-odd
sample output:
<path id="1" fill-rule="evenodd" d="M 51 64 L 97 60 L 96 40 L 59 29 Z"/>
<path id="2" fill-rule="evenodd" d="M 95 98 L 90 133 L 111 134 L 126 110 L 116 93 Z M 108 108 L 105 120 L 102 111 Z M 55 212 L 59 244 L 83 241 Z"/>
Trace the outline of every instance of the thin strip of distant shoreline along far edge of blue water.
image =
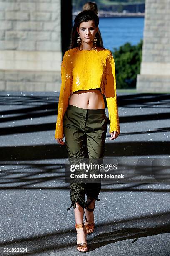
<path id="1" fill-rule="evenodd" d="M 72 18 L 74 19 L 75 16 L 80 13 L 80 11 L 73 12 Z M 99 11 L 98 12 L 99 18 L 140 18 L 145 17 L 145 13 L 119 13 L 119 12 L 106 12 L 106 11 Z"/>

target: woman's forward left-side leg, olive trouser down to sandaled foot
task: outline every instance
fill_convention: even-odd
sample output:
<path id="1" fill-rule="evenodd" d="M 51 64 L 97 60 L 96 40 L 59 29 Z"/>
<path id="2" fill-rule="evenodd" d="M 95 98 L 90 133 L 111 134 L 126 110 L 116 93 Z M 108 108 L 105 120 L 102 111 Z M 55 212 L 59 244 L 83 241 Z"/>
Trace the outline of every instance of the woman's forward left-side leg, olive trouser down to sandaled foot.
<path id="1" fill-rule="evenodd" d="M 83 118 L 83 116 L 82 116 Z M 87 158 L 87 142 L 83 133 L 80 115 L 76 112 L 67 110 L 63 119 L 63 130 L 65 136 L 65 145 L 68 153 L 70 164 L 79 164 L 84 158 Z M 81 174 L 81 170 L 76 170 L 76 174 Z M 78 251 L 87 251 L 86 229 L 83 227 L 83 213 L 85 208 L 85 184 L 80 180 L 70 183 L 70 200 L 71 207 L 74 208 L 76 231 L 77 231 L 77 247 Z M 67 208 L 69 210 L 70 208 Z M 81 225 L 79 225 L 81 224 Z M 80 227 L 81 226 L 81 227 Z M 77 228 L 78 227 L 78 228 Z M 81 246 L 84 243 L 84 247 Z"/>

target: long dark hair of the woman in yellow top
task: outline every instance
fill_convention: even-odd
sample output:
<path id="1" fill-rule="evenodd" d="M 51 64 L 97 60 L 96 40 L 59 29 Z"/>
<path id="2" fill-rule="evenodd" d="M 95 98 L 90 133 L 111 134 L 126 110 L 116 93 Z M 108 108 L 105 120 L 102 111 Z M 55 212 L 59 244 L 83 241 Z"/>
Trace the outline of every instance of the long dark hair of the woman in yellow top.
<path id="1" fill-rule="evenodd" d="M 99 18 L 95 14 L 94 11 L 84 10 L 84 11 L 80 12 L 79 14 L 77 14 L 77 16 L 74 19 L 74 26 L 73 26 L 72 31 L 71 31 L 70 46 L 68 47 L 68 50 L 78 46 L 77 41 L 76 41 L 77 36 L 79 36 L 79 34 L 77 33 L 77 27 L 79 28 L 80 23 L 87 22 L 87 21 L 90 21 L 90 20 L 94 20 L 96 27 L 99 26 Z M 97 31 L 95 36 L 97 38 L 96 46 L 99 46 L 99 47 L 103 48 L 100 32 Z"/>

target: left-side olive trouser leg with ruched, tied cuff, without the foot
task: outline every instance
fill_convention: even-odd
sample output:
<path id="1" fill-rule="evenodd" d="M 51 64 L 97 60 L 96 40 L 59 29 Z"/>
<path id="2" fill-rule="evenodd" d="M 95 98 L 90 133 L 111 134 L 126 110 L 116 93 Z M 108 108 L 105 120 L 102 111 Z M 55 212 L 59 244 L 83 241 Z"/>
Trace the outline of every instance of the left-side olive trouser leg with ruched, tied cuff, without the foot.
<path id="1" fill-rule="evenodd" d="M 80 164 L 87 158 L 87 140 L 82 130 L 80 113 L 67 109 L 63 117 L 63 132 L 65 136 L 65 146 L 70 164 Z M 75 174 L 83 174 L 83 170 L 76 170 Z M 74 179 L 70 183 L 71 207 L 75 209 L 76 203 L 85 208 L 85 184 L 80 179 Z M 67 208 L 69 210 L 70 208 Z"/>

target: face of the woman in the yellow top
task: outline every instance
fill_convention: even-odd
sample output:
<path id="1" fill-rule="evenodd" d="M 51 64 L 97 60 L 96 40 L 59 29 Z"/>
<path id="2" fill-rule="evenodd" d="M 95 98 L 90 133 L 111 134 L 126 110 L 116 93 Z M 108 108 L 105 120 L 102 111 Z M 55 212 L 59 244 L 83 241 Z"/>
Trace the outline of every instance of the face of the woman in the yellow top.
<path id="1" fill-rule="evenodd" d="M 95 26 L 94 20 L 80 23 L 79 28 L 77 28 L 77 33 L 80 35 L 82 41 L 90 43 L 98 31 L 98 27 Z"/>

